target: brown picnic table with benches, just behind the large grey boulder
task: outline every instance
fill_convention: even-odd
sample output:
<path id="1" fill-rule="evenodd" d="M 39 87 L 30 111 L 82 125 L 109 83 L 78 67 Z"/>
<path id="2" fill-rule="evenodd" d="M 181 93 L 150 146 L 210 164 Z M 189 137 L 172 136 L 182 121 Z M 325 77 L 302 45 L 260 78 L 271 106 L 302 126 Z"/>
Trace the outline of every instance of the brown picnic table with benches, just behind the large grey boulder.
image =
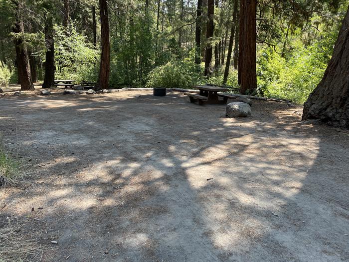
<path id="1" fill-rule="evenodd" d="M 193 87 L 196 89 L 199 89 L 200 93 L 199 94 L 184 93 L 189 97 L 191 103 L 195 103 L 197 101 L 199 105 L 225 104 L 228 100 L 228 98 L 224 96 L 222 96 L 223 100 L 220 100 L 219 97 L 221 95 L 218 95 L 218 92 L 226 92 L 228 91 L 228 88 L 211 86 L 211 85 L 195 85 Z"/>

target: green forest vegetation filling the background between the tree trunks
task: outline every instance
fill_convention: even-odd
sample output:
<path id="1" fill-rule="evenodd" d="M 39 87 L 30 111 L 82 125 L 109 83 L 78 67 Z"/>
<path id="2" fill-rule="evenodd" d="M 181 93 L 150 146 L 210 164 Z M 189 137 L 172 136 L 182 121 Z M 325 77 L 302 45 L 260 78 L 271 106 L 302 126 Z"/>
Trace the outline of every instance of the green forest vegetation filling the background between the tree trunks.
<path id="1" fill-rule="evenodd" d="M 2 0 L 5 7 L 6 2 L 8 1 Z M 42 5 L 31 6 L 33 12 L 39 14 L 38 17 L 22 14 L 25 24 L 28 24 L 28 34 L 38 38 L 24 37 L 35 63 L 37 79 L 43 80 L 42 68 L 45 64 L 45 36 L 40 19 L 50 16 L 54 21 L 55 77 L 74 79 L 76 82 L 96 82 L 101 31 L 98 7 L 96 22 L 93 22 L 91 10 L 98 6 L 98 1 L 65 0 L 63 2 L 68 4 L 67 10 L 58 1 L 38 2 Z M 238 30 L 238 17 L 234 23 L 231 14 L 239 1 L 215 1 L 214 35 L 208 38 L 207 6 L 203 5 L 202 15 L 196 17 L 196 3 L 197 1 L 111 0 L 110 88 L 123 85 L 190 88 L 194 84 L 224 83 L 230 29 L 235 26 L 235 32 Z M 288 1 L 276 1 L 274 5 L 270 5 L 262 0 L 259 3 L 256 94 L 303 103 L 324 74 L 349 1 L 302 0 L 297 5 L 290 5 Z M 239 7 L 236 8 L 238 11 Z M 57 16 L 57 10 L 62 10 L 63 17 Z M 200 65 L 195 63 L 195 22 L 201 26 Z M 0 28 L 5 36 L 0 45 L 3 53 L 0 57 L 0 85 L 6 86 L 9 82 L 17 83 L 11 46 L 14 35 L 18 37 L 18 34 L 10 32 L 9 23 L 4 22 L 3 25 L 7 27 Z M 95 38 L 93 28 L 96 28 Z M 8 35 L 12 35 L 12 38 Z M 238 88 L 237 66 L 234 65 L 238 54 L 238 34 L 231 39 L 234 50 L 226 85 Z M 208 46 L 214 49 L 212 73 L 209 77 L 203 74 L 205 48 Z"/>

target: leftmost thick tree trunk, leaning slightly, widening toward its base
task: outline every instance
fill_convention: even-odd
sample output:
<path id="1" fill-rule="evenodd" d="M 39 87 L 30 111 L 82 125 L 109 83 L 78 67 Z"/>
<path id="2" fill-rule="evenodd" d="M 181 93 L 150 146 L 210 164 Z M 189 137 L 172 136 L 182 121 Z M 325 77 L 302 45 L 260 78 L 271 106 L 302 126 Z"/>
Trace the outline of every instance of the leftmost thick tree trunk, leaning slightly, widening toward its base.
<path id="1" fill-rule="evenodd" d="M 19 7 L 18 7 L 19 8 Z M 24 24 L 21 19 L 15 23 L 15 33 L 24 33 Z M 20 82 L 20 90 L 35 90 L 30 75 L 30 64 L 27 48 L 22 45 L 23 41 L 20 37 L 15 40 L 16 60 L 18 80 Z"/>

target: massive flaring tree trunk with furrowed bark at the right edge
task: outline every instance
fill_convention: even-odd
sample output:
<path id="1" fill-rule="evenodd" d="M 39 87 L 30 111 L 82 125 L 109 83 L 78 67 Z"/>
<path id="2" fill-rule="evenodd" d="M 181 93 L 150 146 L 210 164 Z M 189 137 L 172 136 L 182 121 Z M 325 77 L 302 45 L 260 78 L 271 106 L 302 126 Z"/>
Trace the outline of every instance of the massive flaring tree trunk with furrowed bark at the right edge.
<path id="1" fill-rule="evenodd" d="M 349 129 L 349 9 L 324 77 L 304 104 L 302 119 Z"/>

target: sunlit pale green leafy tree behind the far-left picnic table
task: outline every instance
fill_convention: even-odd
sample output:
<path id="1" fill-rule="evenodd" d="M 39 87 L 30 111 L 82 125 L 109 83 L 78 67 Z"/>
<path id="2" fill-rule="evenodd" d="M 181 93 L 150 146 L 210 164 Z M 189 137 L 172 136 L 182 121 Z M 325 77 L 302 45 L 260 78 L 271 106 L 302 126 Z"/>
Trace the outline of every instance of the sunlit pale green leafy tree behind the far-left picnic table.
<path id="1" fill-rule="evenodd" d="M 55 77 L 76 82 L 96 81 L 99 52 L 87 43 L 86 36 L 79 34 L 72 24 L 68 28 L 55 25 L 54 32 Z"/>

